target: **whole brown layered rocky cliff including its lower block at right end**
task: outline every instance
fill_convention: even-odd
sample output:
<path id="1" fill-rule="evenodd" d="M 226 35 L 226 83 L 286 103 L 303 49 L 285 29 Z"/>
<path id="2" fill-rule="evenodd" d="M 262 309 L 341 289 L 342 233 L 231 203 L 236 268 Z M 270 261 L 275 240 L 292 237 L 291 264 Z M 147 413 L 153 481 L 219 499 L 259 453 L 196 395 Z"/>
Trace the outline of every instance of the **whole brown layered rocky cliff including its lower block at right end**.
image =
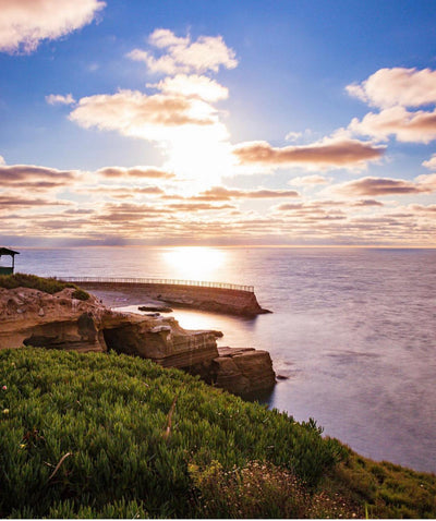
<path id="1" fill-rule="evenodd" d="M 172 317 L 116 312 L 94 295 L 81 301 L 73 292 L 66 288 L 51 295 L 0 288 L 0 349 L 23 344 L 81 352 L 113 349 L 199 374 L 240 395 L 274 386 L 270 358 L 264 351 L 220 353 L 217 331 L 185 330 Z"/>

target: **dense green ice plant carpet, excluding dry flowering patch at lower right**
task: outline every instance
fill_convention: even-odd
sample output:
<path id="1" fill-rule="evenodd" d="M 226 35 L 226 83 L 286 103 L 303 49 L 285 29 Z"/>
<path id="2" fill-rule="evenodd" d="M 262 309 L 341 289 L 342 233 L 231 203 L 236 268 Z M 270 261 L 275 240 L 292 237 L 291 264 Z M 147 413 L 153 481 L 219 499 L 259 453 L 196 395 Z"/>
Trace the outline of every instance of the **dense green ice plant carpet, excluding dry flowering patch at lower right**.
<path id="1" fill-rule="evenodd" d="M 189 464 L 268 461 L 311 486 L 335 464 L 287 414 L 146 360 L 4 350 L 0 383 L 1 517 L 192 517 Z"/>

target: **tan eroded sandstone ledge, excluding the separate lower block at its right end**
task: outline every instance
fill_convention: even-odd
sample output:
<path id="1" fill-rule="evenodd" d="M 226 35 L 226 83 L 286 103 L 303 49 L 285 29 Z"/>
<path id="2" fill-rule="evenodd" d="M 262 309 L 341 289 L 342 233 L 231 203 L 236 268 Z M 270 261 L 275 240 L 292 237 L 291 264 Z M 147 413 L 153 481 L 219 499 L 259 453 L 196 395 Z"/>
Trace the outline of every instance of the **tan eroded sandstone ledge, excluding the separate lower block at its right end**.
<path id="1" fill-rule="evenodd" d="M 218 355 L 211 331 L 186 331 L 172 317 L 114 312 L 93 295 L 75 300 L 73 291 L 50 295 L 27 288 L 0 289 L 0 349 L 114 349 L 175 367 L 211 362 Z"/>

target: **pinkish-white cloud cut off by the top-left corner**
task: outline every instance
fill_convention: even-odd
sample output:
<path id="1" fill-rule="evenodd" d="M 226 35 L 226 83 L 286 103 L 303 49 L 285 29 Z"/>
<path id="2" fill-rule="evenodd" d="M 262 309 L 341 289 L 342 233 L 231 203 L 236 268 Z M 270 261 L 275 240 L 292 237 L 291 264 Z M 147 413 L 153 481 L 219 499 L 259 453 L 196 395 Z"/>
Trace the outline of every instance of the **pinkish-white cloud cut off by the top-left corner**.
<path id="1" fill-rule="evenodd" d="M 0 51 L 32 52 L 43 39 L 56 39 L 89 24 L 100 0 L 0 0 Z"/>

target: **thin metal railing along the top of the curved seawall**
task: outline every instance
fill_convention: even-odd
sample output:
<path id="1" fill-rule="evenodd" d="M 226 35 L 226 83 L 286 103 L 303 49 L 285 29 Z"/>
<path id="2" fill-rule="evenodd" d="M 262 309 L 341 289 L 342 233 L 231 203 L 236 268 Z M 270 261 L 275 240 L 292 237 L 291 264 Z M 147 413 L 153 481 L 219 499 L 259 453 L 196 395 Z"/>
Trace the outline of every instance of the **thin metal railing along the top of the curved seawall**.
<path id="1" fill-rule="evenodd" d="M 226 290 L 249 291 L 254 293 L 253 286 L 230 284 L 228 282 L 208 282 L 204 280 L 179 280 L 179 279 L 155 279 L 155 278 L 132 278 L 132 277 L 57 277 L 59 280 L 75 283 L 118 283 L 118 284 L 168 284 L 168 286 L 195 286 L 198 288 L 220 288 Z"/>

